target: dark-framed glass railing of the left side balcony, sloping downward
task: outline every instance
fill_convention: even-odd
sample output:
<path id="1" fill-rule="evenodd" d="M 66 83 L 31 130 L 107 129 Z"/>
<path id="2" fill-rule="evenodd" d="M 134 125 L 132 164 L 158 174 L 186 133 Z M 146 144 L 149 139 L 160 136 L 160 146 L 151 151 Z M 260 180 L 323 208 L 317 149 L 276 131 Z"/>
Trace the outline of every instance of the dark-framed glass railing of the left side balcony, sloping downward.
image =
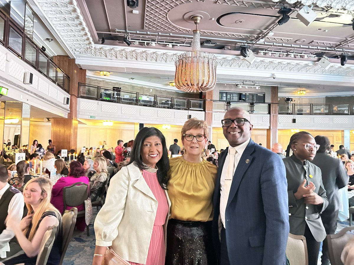
<path id="1" fill-rule="evenodd" d="M 25 33 L 24 28 L 0 11 L 0 45 L 32 66 L 66 92 L 70 78 Z"/>

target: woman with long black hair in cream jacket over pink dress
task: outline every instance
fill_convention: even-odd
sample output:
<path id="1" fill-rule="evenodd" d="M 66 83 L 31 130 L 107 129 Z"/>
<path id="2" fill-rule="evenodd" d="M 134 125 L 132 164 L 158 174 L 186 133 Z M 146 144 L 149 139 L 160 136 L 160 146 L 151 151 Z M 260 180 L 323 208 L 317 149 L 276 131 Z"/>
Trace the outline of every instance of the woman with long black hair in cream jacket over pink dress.
<path id="1" fill-rule="evenodd" d="M 131 160 L 110 180 L 105 204 L 95 219 L 93 265 L 107 247 L 133 265 L 164 265 L 171 202 L 166 185 L 166 139 L 156 128 L 137 134 Z"/>

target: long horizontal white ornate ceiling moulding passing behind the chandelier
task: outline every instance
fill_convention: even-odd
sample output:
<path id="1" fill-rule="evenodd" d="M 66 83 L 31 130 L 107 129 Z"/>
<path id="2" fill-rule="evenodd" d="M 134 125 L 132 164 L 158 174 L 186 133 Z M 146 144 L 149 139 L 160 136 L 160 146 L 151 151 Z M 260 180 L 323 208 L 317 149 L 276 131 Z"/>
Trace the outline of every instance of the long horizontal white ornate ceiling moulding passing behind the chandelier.
<path id="1" fill-rule="evenodd" d="M 89 57 L 103 57 L 119 60 L 136 60 L 148 61 L 158 63 L 174 64 L 178 55 L 181 53 L 173 52 L 160 52 L 149 51 L 130 48 L 103 48 L 95 47 L 83 50 Z M 84 59 L 84 57 L 81 57 Z M 87 57 L 86 57 L 87 58 Z M 256 59 L 253 64 L 242 60 L 239 56 L 217 56 L 218 67 L 233 67 L 241 69 L 254 69 L 254 70 L 275 70 L 275 71 L 290 71 L 290 72 L 303 72 L 303 73 L 319 73 L 325 75 L 336 76 L 353 76 L 354 67 L 340 66 L 339 64 L 331 64 L 326 70 L 316 62 L 299 62 L 291 60 L 269 60 L 269 59 Z"/>

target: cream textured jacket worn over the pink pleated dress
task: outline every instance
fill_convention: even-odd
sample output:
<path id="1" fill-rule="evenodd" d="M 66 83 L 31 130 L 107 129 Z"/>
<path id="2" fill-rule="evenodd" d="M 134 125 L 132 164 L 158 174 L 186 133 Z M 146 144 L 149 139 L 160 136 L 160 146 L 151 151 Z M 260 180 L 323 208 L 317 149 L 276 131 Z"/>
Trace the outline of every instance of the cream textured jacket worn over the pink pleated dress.
<path id="1" fill-rule="evenodd" d="M 169 207 L 171 201 L 165 190 Z M 110 180 L 107 197 L 95 219 L 96 245 L 109 247 L 125 260 L 145 264 L 158 202 L 134 163 Z M 164 224 L 166 227 L 170 211 Z"/>

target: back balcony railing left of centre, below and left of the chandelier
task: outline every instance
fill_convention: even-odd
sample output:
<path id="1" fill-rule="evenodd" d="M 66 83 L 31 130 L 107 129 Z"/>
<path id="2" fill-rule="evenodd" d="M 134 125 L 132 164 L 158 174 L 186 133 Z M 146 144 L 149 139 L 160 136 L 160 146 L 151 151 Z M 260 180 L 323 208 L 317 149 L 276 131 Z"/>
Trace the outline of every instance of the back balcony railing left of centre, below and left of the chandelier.
<path id="1" fill-rule="evenodd" d="M 204 111 L 205 107 L 205 101 L 202 99 L 152 95 L 125 91 L 119 88 L 92 86 L 90 84 L 84 83 L 79 83 L 78 97 L 121 104 L 131 104 L 156 108 L 173 108 L 176 110 Z"/>

